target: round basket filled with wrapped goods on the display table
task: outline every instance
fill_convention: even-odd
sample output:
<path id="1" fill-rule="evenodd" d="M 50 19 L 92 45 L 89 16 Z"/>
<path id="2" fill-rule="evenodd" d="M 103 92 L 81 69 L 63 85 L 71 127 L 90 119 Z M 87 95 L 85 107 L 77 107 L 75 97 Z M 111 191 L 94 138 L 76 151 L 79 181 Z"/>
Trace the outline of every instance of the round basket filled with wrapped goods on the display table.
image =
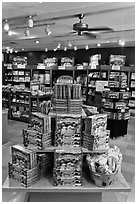
<path id="1" fill-rule="evenodd" d="M 117 146 L 103 154 L 88 154 L 86 161 L 92 180 L 97 186 L 109 186 L 121 171 L 122 154 Z"/>

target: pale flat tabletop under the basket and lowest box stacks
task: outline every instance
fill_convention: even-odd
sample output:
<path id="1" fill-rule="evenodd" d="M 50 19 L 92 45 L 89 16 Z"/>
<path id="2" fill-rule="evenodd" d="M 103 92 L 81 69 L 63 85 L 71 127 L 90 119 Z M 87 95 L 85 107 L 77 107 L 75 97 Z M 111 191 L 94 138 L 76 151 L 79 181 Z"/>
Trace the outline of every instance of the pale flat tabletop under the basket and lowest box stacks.
<path id="1" fill-rule="evenodd" d="M 31 185 L 30 187 L 19 186 L 17 182 L 6 178 L 3 186 L 3 190 L 6 191 L 26 191 L 26 192 L 53 192 L 53 193 L 65 193 L 65 192 L 73 192 L 73 193 L 102 193 L 102 192 L 129 192 L 130 186 L 123 177 L 121 173 L 119 173 L 116 177 L 116 180 L 113 184 L 107 187 L 98 187 L 91 179 L 83 174 L 82 186 L 53 186 L 53 177 L 52 174 L 47 175 L 44 178 L 41 178 L 36 183 Z"/>

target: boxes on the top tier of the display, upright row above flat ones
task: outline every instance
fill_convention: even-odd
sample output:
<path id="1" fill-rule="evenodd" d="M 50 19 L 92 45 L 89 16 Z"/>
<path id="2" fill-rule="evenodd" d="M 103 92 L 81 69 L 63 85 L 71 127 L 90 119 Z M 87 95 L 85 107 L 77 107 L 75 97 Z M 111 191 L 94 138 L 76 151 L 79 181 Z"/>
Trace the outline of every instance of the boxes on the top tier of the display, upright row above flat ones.
<path id="1" fill-rule="evenodd" d="M 59 81 L 54 87 L 53 110 L 56 113 L 82 113 L 81 85 Z"/>

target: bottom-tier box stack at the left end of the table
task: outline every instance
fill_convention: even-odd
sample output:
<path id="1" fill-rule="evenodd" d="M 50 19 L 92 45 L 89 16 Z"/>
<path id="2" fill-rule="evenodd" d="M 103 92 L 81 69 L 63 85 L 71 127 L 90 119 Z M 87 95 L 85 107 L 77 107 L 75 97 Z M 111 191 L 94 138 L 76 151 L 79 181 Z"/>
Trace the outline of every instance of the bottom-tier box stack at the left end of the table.
<path id="1" fill-rule="evenodd" d="M 9 179 L 28 187 L 38 179 L 37 154 L 23 145 L 11 147 L 12 162 L 8 164 Z"/>

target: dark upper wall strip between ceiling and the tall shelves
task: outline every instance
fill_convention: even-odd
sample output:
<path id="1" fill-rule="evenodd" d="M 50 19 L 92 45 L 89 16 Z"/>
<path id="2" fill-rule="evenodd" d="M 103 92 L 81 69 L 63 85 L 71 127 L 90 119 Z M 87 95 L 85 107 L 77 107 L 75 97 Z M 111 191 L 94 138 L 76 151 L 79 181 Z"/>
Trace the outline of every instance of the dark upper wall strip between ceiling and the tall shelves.
<path id="1" fill-rule="evenodd" d="M 115 55 L 125 55 L 126 56 L 126 65 L 135 64 L 135 47 L 114 47 L 114 48 L 93 48 L 89 50 L 79 49 L 77 51 L 63 50 L 48 51 L 32 51 L 32 52 L 20 52 L 9 54 L 8 63 L 12 62 L 13 56 L 26 56 L 28 58 L 29 65 L 36 65 L 38 62 L 43 62 L 43 59 L 46 57 L 57 57 L 61 58 L 74 57 L 75 64 L 80 64 L 82 62 L 89 62 L 89 57 L 94 54 L 101 54 L 101 64 L 109 64 L 109 56 L 111 54 Z"/>

